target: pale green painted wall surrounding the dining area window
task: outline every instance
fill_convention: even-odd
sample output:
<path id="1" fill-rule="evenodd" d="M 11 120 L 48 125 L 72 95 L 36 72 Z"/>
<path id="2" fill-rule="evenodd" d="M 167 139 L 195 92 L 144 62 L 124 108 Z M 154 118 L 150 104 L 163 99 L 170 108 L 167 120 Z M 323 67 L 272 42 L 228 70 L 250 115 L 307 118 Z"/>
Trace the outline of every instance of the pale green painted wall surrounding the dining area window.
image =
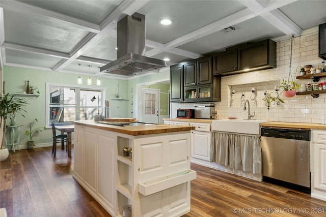
<path id="1" fill-rule="evenodd" d="M 45 83 L 54 83 L 54 84 L 77 84 L 77 74 L 70 73 L 60 73 L 28 68 L 19 68 L 4 66 L 3 70 L 4 81 L 5 81 L 5 91 L 9 93 L 22 92 L 26 90 L 26 81 L 30 81 L 30 85 L 37 86 L 40 90 L 40 97 L 29 97 L 26 98 L 29 105 L 25 107 L 27 113 L 25 117 L 22 117 L 20 114 L 16 115 L 16 123 L 23 125 L 21 127 L 22 133 L 28 128 L 29 122 L 33 121 L 34 118 L 39 120 L 36 127 L 43 127 L 45 125 Z M 89 76 L 81 75 L 83 79 L 82 86 L 86 85 L 87 78 Z M 93 87 L 96 86 L 97 77 L 91 76 L 93 81 Z M 122 98 L 128 98 L 128 80 L 121 79 L 111 79 L 111 78 L 100 78 L 101 86 L 106 87 L 106 100 L 110 101 L 110 109 L 112 117 L 130 117 L 130 105 L 128 101 L 116 101 L 111 100 L 110 98 L 116 94 L 116 87 L 119 84 L 119 94 Z M 50 130 L 43 131 L 38 136 L 34 138 L 35 143 L 47 143 L 52 141 L 52 132 Z M 20 144 L 25 144 L 28 141 L 28 137 L 24 134 L 20 137 Z"/>

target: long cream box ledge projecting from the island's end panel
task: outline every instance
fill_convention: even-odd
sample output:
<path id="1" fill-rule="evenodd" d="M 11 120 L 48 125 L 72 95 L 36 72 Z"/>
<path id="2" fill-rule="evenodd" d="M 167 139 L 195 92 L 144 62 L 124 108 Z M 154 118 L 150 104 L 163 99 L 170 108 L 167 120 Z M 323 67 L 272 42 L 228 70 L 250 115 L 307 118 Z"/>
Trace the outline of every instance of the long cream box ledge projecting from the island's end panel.
<path id="1" fill-rule="evenodd" d="M 186 170 L 150 181 L 138 183 L 138 192 L 144 196 L 169 189 L 173 186 L 191 181 L 196 178 L 196 171 Z"/>

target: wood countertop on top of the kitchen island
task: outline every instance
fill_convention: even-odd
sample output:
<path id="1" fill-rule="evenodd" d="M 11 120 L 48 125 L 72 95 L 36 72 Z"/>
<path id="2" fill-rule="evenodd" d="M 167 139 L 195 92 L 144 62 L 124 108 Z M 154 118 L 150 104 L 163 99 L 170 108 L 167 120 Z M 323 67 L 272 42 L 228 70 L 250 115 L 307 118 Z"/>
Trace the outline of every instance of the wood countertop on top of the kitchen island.
<path id="1" fill-rule="evenodd" d="M 102 121 L 104 122 L 104 121 Z M 175 126 L 175 125 L 146 125 L 146 126 L 113 126 L 103 123 L 97 123 L 94 120 L 77 120 L 75 125 L 97 128 L 101 130 L 113 131 L 117 133 L 128 134 L 132 136 L 149 135 L 157 133 L 172 133 L 181 131 L 195 130 L 195 127 Z"/>

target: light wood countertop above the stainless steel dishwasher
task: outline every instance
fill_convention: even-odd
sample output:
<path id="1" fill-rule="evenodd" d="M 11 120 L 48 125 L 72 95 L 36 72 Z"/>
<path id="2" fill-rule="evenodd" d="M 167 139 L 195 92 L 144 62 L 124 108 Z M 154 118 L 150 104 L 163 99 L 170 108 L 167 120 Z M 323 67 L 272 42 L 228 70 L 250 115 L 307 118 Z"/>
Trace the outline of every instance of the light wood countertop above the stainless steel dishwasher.
<path id="1" fill-rule="evenodd" d="M 261 122 L 261 127 L 293 128 L 293 129 L 319 129 L 326 130 L 326 125 L 320 123 L 297 123 L 297 122 Z"/>

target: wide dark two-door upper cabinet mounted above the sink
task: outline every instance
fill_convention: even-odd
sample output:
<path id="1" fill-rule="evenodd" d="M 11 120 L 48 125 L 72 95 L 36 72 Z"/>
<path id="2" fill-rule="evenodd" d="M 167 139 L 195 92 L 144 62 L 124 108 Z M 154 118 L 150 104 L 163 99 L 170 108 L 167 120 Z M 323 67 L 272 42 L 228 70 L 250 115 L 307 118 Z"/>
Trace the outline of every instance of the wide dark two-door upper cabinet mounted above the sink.
<path id="1" fill-rule="evenodd" d="M 226 76 L 270 68 L 276 68 L 276 42 L 270 39 L 228 49 L 213 56 L 215 75 Z"/>

